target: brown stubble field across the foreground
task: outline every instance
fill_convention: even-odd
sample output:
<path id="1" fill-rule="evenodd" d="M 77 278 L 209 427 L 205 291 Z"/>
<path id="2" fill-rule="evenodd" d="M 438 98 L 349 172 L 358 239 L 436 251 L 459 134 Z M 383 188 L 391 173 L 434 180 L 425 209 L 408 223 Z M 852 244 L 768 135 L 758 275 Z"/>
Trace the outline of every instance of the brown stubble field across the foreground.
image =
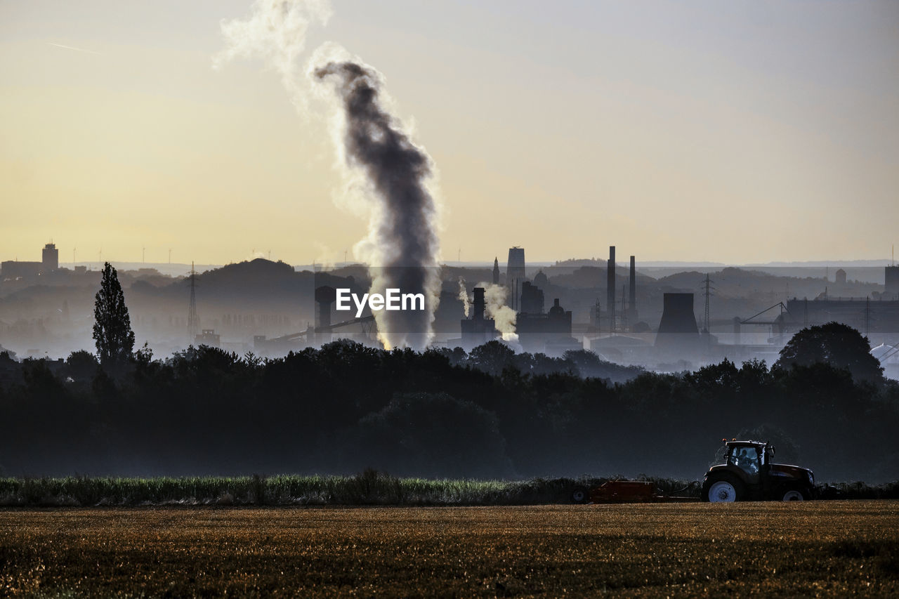
<path id="1" fill-rule="evenodd" d="M 0 511 L 0 595 L 899 596 L 899 502 Z"/>

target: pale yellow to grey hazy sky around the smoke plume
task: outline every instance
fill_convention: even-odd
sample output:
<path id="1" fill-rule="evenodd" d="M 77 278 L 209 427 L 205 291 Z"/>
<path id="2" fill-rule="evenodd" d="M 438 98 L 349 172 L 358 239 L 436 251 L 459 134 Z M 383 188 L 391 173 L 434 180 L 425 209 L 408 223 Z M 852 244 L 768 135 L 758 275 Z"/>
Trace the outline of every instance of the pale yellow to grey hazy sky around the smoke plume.
<path id="1" fill-rule="evenodd" d="M 319 121 L 222 70 L 249 0 L 0 0 L 0 258 L 338 262 Z M 443 257 L 886 257 L 899 2 L 334 0 L 440 171 Z M 62 48 L 68 46 L 70 48 Z M 89 51 L 83 51 L 89 50 Z"/>

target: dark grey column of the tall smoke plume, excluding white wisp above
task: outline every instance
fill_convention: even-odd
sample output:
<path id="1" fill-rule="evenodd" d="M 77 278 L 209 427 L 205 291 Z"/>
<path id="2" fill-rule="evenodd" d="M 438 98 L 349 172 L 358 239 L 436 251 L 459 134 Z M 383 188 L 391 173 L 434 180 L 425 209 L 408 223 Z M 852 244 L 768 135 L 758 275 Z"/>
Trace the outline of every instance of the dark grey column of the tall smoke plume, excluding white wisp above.
<path id="1" fill-rule="evenodd" d="M 334 82 L 343 104 L 344 159 L 365 174 L 367 195 L 378 201 L 370 231 L 378 255 L 377 262 L 369 262 L 371 291 L 398 288 L 425 297 L 423 311 L 378 312 L 379 335 L 388 347 L 423 348 L 432 338 L 440 285 L 436 206 L 426 185 L 431 159 L 381 105 L 381 81 L 374 69 L 352 61 L 329 62 L 313 74 Z"/>

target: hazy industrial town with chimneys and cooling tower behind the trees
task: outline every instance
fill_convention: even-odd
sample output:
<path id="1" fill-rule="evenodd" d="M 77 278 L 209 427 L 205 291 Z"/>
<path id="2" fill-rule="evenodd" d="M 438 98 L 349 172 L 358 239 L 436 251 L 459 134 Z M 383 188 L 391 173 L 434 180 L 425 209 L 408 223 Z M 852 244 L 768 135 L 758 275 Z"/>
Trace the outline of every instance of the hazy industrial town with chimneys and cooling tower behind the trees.
<path id="1" fill-rule="evenodd" d="M 433 345 L 470 351 L 500 339 L 518 351 L 586 349 L 682 371 L 724 358 L 770 364 L 798 330 L 836 321 L 866 335 L 886 375 L 899 377 L 899 266 L 889 261 L 641 264 L 615 246 L 605 260 L 555 264 L 529 264 L 523 247 L 503 254 L 492 265 L 441 266 Z M 99 264 L 60 264 L 53 243 L 40 261 L 3 261 L 0 352 L 57 360 L 91 349 Z M 138 345 L 157 354 L 206 344 L 276 357 L 339 338 L 379 345 L 369 310 L 349 318 L 334 309 L 335 288 L 368 291 L 363 264 L 119 264 L 119 279 Z"/>

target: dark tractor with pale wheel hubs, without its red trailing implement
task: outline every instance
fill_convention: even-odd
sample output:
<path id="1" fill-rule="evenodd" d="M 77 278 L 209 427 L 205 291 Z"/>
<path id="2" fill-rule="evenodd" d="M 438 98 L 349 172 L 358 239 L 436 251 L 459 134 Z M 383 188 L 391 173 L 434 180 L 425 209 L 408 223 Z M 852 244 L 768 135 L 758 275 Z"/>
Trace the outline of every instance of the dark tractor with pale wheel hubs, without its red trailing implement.
<path id="1" fill-rule="evenodd" d="M 712 466 L 702 483 L 702 501 L 807 501 L 814 496 L 814 472 L 775 464 L 774 446 L 759 441 L 725 443 L 725 463 Z"/>

